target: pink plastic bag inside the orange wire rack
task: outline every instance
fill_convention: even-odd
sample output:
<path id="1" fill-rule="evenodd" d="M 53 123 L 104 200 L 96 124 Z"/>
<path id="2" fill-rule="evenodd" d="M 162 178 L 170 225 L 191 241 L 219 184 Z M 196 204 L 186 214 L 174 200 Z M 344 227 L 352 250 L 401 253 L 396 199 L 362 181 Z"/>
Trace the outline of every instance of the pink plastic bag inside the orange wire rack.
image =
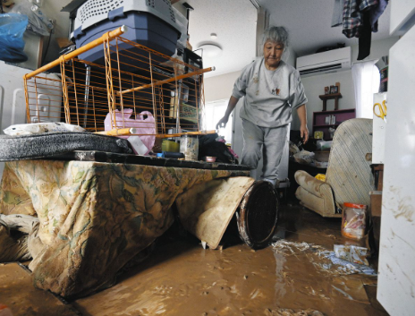
<path id="1" fill-rule="evenodd" d="M 131 138 L 131 146 L 134 149 L 136 154 L 142 154 L 142 151 L 138 150 L 138 148 L 134 147 L 134 143 L 139 142 L 141 146 L 144 144 L 147 147 L 147 151 L 144 155 L 147 155 L 148 152 L 153 148 L 154 142 L 156 141 L 156 127 L 155 127 L 155 120 L 153 115 L 150 112 L 144 111 L 141 112 L 140 115 L 136 117 L 131 117 L 132 115 L 132 108 L 124 108 L 123 114 L 115 110 L 115 122 L 117 128 L 135 128 L 137 133 L 140 136 L 118 136 L 120 138 L 124 138 L 130 141 Z M 147 117 L 144 117 L 147 116 Z M 108 113 L 106 115 L 106 119 L 104 121 L 104 126 L 106 131 L 111 131 L 111 115 Z M 147 135 L 146 135 L 147 134 Z M 140 141 L 137 140 L 137 137 L 140 137 Z"/>

